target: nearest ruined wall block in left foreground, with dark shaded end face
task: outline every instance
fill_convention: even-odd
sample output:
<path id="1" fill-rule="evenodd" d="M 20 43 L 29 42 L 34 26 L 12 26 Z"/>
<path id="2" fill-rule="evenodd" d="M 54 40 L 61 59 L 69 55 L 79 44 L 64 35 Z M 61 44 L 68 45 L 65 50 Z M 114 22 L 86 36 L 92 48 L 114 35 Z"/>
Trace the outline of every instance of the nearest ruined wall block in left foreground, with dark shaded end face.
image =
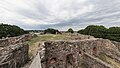
<path id="1" fill-rule="evenodd" d="M 0 68 L 20 68 L 29 59 L 28 50 L 23 43 L 0 47 Z"/>

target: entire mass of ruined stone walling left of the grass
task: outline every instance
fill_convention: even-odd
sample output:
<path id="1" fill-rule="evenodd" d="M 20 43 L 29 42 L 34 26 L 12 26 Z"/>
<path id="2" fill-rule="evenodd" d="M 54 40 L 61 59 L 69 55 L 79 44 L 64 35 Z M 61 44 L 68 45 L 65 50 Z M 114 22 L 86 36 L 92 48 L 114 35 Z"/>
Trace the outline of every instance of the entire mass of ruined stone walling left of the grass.
<path id="1" fill-rule="evenodd" d="M 20 68 L 29 59 L 28 44 L 30 34 L 0 39 L 0 68 Z"/>

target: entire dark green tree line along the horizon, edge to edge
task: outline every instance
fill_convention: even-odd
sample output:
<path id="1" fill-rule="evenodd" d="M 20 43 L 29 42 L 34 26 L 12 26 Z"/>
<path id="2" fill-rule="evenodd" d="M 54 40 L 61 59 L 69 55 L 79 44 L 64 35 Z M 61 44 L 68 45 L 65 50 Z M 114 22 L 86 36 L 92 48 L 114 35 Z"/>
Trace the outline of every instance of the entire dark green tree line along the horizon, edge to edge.
<path id="1" fill-rule="evenodd" d="M 14 37 L 26 34 L 28 32 L 36 32 L 38 30 L 25 31 L 16 25 L 0 24 L 0 38 L 2 37 Z M 39 30 L 41 32 L 41 30 Z M 38 31 L 38 32 L 39 32 Z M 48 28 L 43 30 L 44 34 L 61 34 L 57 29 Z M 69 28 L 66 33 L 74 33 L 72 28 Z M 79 30 L 78 33 L 85 35 L 92 35 L 96 38 L 110 39 L 120 42 L 120 27 L 106 28 L 102 25 L 89 25 L 85 29 Z"/>

